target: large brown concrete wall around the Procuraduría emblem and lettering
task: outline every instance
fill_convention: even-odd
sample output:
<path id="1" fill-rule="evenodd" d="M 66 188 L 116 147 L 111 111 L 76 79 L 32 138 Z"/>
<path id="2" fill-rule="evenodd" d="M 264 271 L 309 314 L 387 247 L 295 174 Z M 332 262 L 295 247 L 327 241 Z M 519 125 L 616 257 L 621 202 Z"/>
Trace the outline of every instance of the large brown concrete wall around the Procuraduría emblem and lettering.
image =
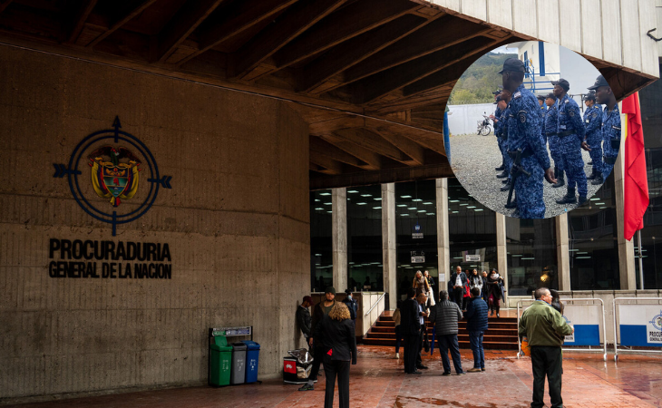
<path id="1" fill-rule="evenodd" d="M 0 402 L 206 384 L 211 326 L 253 325 L 260 376 L 280 375 L 309 287 L 307 123 L 283 102 L 6 47 L 0 95 Z M 53 164 L 115 115 L 172 189 L 112 237 Z M 168 243 L 172 276 L 49 277 L 50 238 Z"/>

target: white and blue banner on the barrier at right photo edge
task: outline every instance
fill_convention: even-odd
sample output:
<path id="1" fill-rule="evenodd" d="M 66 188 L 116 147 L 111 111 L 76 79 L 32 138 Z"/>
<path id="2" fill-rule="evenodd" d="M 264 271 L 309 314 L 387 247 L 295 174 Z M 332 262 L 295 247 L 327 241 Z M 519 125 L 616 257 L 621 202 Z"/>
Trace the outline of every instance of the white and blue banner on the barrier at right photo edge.
<path id="1" fill-rule="evenodd" d="M 618 305 L 620 345 L 662 345 L 662 306 Z"/>

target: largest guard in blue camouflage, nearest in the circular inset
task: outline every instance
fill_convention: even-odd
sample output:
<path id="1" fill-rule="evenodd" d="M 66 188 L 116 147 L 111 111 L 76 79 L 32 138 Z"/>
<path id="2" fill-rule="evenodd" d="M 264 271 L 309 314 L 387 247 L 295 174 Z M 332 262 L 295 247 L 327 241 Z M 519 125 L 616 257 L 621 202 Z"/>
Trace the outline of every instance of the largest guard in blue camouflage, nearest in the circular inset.
<path id="1" fill-rule="evenodd" d="M 542 178 L 556 182 L 547 146 L 542 141 L 542 116 L 533 93 L 522 84 L 524 63 L 509 58 L 501 69 L 503 89 L 512 93 L 508 115 L 508 153 L 513 159 L 512 183 L 522 219 L 545 217 Z M 517 212 L 517 211 L 516 211 Z M 514 216 L 514 214 L 513 214 Z"/>

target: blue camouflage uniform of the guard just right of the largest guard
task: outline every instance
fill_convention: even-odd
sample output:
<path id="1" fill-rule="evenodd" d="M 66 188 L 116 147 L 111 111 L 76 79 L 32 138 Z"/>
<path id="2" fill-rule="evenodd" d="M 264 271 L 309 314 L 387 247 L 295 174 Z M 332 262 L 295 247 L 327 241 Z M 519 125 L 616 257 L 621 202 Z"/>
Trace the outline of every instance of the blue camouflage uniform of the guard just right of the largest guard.
<path id="1" fill-rule="evenodd" d="M 559 140 L 563 169 L 568 175 L 568 189 L 577 189 L 579 197 L 586 197 L 589 188 L 584 172 L 584 160 L 581 158 L 581 142 L 586 129 L 581 121 L 577 102 L 565 95 L 559 101 Z M 566 133 L 564 136 L 563 133 Z M 570 133 L 570 134 L 568 134 Z"/>

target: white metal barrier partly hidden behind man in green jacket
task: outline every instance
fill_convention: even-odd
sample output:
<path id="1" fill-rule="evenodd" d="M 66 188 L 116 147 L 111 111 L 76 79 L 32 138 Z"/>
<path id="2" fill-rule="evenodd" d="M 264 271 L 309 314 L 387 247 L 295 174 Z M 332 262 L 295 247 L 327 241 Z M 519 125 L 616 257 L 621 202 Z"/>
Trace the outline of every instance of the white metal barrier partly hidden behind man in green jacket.
<path id="1" fill-rule="evenodd" d="M 563 318 L 566 319 L 568 324 L 572 325 L 575 332 L 572 335 L 566 335 L 563 351 L 572 351 L 579 353 L 602 353 L 602 358 L 607 361 L 607 321 L 605 319 L 605 303 L 599 298 L 572 298 L 560 299 L 565 305 L 563 310 Z M 520 309 L 523 302 L 529 303 L 529 306 L 535 302 L 533 299 L 522 299 L 517 302 L 517 326 L 520 326 Z M 589 304 L 581 303 L 575 305 L 575 302 L 590 302 Z M 574 309 L 581 309 L 575 311 Z M 600 322 L 602 325 L 600 326 Z M 600 340 L 600 328 L 602 329 L 602 341 Z M 576 348 L 567 347 L 567 345 L 574 346 L 588 346 L 589 348 Z M 599 348 L 591 348 L 591 347 Z M 521 339 L 517 336 L 517 357 L 521 355 Z"/>

